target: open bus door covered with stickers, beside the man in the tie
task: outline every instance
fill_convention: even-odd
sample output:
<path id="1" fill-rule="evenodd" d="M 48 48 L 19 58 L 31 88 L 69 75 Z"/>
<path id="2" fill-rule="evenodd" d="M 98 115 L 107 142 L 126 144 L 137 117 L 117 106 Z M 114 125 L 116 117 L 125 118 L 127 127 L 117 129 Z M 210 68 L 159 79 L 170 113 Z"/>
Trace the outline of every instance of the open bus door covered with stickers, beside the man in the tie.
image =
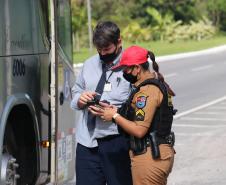
<path id="1" fill-rule="evenodd" d="M 56 181 L 63 184 L 75 175 L 75 114 L 70 108 L 75 76 L 72 61 L 70 0 L 56 0 Z"/>

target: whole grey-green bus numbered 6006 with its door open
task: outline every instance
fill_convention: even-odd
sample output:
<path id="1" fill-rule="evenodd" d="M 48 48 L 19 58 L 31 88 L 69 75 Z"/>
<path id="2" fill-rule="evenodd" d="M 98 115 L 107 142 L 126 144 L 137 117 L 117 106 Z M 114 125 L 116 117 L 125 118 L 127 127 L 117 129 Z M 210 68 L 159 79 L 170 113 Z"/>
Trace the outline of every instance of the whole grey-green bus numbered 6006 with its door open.
<path id="1" fill-rule="evenodd" d="M 0 0 L 0 184 L 74 177 L 70 0 Z"/>

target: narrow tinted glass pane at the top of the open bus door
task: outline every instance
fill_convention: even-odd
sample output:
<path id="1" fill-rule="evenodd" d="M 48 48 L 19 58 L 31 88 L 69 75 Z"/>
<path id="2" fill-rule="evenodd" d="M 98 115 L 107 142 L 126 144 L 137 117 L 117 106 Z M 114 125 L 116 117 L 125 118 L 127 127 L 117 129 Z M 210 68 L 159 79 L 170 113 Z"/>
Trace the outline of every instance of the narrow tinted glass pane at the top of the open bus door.
<path id="1" fill-rule="evenodd" d="M 57 14 L 59 44 L 72 63 L 71 10 L 69 0 L 58 0 Z"/>

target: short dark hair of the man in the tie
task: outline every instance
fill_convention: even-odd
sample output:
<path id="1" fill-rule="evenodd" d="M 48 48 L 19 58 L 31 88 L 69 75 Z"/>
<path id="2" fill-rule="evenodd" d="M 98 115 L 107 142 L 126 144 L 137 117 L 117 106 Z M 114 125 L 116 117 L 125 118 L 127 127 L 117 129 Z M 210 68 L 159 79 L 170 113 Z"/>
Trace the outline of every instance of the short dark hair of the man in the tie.
<path id="1" fill-rule="evenodd" d="M 119 27 L 111 22 L 99 22 L 93 31 L 93 44 L 97 48 L 105 48 L 110 44 L 117 44 L 120 37 Z"/>

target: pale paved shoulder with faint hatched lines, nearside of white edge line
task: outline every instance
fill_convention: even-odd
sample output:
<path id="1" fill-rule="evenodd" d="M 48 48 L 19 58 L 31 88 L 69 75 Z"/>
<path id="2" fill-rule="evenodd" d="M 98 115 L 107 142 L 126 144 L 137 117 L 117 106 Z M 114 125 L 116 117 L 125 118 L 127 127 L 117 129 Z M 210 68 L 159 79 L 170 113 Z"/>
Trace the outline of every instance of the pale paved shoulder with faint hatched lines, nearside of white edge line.
<path id="1" fill-rule="evenodd" d="M 226 97 L 173 124 L 175 163 L 168 185 L 226 184 Z"/>

